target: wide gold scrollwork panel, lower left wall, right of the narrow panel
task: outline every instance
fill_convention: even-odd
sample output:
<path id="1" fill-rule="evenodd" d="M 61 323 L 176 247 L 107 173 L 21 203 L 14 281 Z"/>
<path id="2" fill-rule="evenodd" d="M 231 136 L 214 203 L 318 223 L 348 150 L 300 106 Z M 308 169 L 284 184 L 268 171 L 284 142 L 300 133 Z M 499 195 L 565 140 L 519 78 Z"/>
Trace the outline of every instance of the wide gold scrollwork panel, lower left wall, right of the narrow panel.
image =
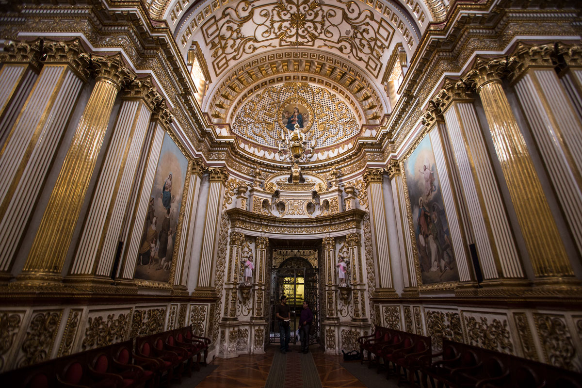
<path id="1" fill-rule="evenodd" d="M 73 311 L 72 313 L 74 316 Z M 83 340 L 81 340 L 80 350 L 89 350 L 127 340 L 131 317 L 132 308 L 117 311 L 111 309 L 90 311 L 84 332 L 82 332 Z"/>

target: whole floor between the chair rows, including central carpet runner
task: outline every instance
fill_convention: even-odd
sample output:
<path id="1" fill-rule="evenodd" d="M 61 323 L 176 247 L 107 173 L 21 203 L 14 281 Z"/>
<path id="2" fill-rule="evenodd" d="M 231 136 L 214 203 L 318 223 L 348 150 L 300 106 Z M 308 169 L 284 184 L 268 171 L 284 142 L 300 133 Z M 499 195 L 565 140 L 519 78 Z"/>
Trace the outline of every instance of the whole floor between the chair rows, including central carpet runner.
<path id="1" fill-rule="evenodd" d="M 340 364 L 342 356 L 324 354 L 320 347 L 315 346 L 311 347 L 309 355 L 300 354 L 299 346 L 291 346 L 291 349 L 286 355 L 278 353 L 278 346 L 271 346 L 265 354 L 240 355 L 230 359 L 215 358 L 212 364 L 218 367 L 196 387 L 262 388 L 267 385 L 267 380 L 268 387 L 273 388 L 370 387 L 343 368 Z M 274 374 L 269 377 L 271 366 L 278 370 L 274 370 Z M 285 372 L 276 373 L 279 370 Z M 193 386 L 191 382 L 184 380 L 180 388 Z"/>

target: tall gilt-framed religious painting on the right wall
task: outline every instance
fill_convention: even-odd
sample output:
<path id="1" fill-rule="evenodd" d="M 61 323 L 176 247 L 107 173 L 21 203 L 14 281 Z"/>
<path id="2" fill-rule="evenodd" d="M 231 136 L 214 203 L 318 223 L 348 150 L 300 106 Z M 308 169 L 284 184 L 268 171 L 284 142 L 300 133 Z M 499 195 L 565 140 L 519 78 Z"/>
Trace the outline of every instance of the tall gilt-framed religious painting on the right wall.
<path id="1" fill-rule="evenodd" d="M 459 280 L 430 137 L 404 162 L 423 284 Z"/>

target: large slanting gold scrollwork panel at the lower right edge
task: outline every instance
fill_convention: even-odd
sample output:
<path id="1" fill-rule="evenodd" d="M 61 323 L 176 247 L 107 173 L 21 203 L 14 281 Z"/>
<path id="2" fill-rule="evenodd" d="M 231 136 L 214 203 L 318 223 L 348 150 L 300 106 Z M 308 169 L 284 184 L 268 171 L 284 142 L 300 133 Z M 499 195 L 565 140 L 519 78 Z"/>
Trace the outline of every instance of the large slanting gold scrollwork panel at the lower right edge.
<path id="1" fill-rule="evenodd" d="M 580 359 L 561 314 L 534 313 L 535 329 L 544 351 L 545 362 L 560 368 L 580 372 Z"/>

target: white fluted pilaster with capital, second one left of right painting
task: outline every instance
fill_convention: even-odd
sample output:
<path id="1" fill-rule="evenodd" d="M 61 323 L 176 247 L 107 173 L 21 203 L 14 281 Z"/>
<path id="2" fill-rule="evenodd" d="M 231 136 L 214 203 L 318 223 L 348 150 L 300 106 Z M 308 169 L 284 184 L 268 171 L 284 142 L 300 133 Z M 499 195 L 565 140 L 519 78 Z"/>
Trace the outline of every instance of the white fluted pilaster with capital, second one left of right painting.
<path id="1" fill-rule="evenodd" d="M 388 246 L 388 227 L 386 226 L 386 209 L 384 208 L 384 195 L 382 194 L 383 174 L 384 169 L 368 169 L 364 173 L 364 180 L 368 187 L 372 243 L 374 245 L 374 257 L 378 270 L 379 288 L 393 289 L 391 258 Z"/>

